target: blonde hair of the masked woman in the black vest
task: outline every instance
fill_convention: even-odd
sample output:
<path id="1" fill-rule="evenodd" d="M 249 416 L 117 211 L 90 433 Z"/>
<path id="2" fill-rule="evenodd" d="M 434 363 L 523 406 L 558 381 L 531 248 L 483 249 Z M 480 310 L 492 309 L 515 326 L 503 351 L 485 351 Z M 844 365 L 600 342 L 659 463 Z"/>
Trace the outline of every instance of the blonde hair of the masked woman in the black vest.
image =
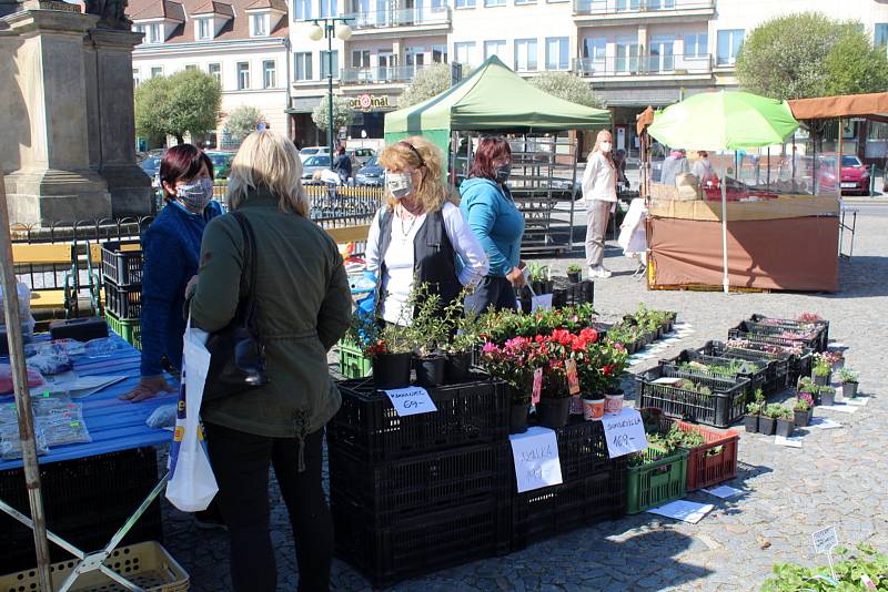
<path id="1" fill-rule="evenodd" d="M 415 151 L 415 152 L 414 152 Z M 403 171 L 404 169 L 418 170 L 423 180 L 416 186 L 416 197 L 425 212 L 437 212 L 444 207 L 444 202 L 455 203 L 454 196 L 448 191 L 442 171 L 444 170 L 444 156 L 431 140 L 421 135 L 413 135 L 401 142 L 395 142 L 385 146 L 379 162 L 390 171 Z M 386 203 L 392 210 L 397 200 L 392 197 L 387 190 L 385 192 Z"/>

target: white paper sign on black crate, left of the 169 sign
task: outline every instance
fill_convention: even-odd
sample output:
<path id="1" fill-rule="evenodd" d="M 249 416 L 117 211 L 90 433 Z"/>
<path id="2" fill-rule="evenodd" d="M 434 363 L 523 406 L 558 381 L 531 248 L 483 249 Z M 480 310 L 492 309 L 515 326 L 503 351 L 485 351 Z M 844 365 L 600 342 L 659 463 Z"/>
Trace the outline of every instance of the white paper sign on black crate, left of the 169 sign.
<path id="1" fill-rule="evenodd" d="M 518 493 L 563 482 L 558 440 L 553 430 L 533 427 L 508 439 L 512 441 Z"/>

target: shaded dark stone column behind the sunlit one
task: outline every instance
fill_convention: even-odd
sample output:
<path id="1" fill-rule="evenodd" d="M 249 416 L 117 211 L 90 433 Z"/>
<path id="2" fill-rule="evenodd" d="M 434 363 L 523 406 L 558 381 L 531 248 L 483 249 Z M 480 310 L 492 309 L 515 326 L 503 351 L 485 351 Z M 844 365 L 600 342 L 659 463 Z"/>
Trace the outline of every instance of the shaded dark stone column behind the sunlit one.
<path id="1" fill-rule="evenodd" d="M 151 180 L 135 164 L 132 50 L 141 33 L 92 29 L 84 52 L 90 155 L 111 193 L 114 217 L 151 211 Z M 94 162 L 94 161 L 93 161 Z"/>

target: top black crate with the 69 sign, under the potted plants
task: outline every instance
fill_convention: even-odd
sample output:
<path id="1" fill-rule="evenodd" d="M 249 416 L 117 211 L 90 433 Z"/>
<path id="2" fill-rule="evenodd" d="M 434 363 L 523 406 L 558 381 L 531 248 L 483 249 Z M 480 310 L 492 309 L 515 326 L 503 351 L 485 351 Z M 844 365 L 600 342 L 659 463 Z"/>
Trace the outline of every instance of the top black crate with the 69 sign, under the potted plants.
<path id="1" fill-rule="evenodd" d="M 428 388 L 437 411 L 400 417 L 372 379 L 339 382 L 342 407 L 327 423 L 330 446 L 365 462 L 384 462 L 461 446 L 508 439 L 504 382 L 471 381 Z"/>

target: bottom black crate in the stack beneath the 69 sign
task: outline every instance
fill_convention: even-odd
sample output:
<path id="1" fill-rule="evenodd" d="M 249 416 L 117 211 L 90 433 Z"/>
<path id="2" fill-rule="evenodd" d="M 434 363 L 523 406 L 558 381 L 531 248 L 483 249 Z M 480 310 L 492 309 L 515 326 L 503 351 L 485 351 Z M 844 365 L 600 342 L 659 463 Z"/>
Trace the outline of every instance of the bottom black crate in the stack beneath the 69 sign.
<path id="1" fill-rule="evenodd" d="M 331 497 L 339 557 L 375 588 L 508 552 L 509 503 L 487 500 L 376 528 L 360 506 Z"/>

